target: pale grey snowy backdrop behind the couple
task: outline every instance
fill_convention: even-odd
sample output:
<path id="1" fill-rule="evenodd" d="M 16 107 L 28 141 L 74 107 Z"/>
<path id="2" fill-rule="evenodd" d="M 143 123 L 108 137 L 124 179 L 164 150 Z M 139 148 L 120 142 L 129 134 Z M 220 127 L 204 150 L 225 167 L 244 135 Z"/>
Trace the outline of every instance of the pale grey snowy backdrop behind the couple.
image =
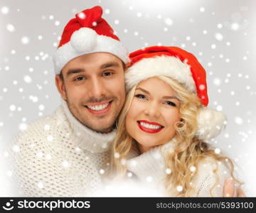
<path id="1" fill-rule="evenodd" d="M 75 13 L 95 5 L 105 9 L 103 17 L 130 51 L 176 45 L 196 55 L 208 72 L 209 107 L 228 117 L 227 128 L 211 143 L 235 160 L 247 196 L 256 196 L 254 0 L 1 0 L 0 196 L 11 195 L 12 185 L 4 146 L 19 127 L 60 104 L 50 58 L 58 37 Z"/>

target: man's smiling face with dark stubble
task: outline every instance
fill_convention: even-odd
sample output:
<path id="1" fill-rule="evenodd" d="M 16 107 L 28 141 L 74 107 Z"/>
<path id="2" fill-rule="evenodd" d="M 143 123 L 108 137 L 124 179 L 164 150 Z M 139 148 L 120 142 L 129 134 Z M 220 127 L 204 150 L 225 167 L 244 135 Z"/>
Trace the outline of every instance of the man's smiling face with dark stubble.
<path id="1" fill-rule="evenodd" d="M 110 53 L 90 53 L 70 60 L 56 75 L 58 91 L 73 116 L 88 128 L 107 133 L 125 100 L 122 60 Z"/>

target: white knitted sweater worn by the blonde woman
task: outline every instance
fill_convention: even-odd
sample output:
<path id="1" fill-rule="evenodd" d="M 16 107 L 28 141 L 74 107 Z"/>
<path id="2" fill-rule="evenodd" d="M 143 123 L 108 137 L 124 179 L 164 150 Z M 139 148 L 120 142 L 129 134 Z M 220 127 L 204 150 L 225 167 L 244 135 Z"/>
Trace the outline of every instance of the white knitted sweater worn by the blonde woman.
<path id="1" fill-rule="evenodd" d="M 151 148 L 146 153 L 127 160 L 127 169 L 134 173 L 139 181 L 145 183 L 148 187 L 158 189 L 159 193 L 164 194 L 163 181 L 166 178 L 166 166 L 162 152 L 170 150 L 173 145 L 169 143 Z M 217 162 L 217 165 L 212 158 L 201 160 L 196 168 L 198 173 L 193 178 L 192 183 L 195 190 L 193 190 L 191 197 L 223 197 L 224 181 L 225 178 L 230 178 L 230 173 L 223 163 Z"/>

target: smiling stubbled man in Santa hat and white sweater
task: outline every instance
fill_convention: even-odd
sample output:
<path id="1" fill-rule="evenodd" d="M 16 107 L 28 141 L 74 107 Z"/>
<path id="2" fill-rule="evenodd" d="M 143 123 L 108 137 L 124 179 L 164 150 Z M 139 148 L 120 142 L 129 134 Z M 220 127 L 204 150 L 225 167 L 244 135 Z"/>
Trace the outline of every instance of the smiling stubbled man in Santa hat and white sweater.
<path id="1" fill-rule="evenodd" d="M 53 58 L 63 102 L 11 146 L 23 196 L 87 196 L 102 185 L 115 121 L 124 104 L 129 59 L 101 16 L 102 9 L 95 6 L 65 26 Z"/>

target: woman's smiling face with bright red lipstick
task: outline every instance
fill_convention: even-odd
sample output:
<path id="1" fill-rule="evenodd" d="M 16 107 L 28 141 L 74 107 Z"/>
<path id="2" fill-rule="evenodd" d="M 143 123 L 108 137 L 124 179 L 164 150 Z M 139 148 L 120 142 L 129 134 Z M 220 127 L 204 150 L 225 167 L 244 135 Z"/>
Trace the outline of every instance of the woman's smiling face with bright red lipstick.
<path id="1" fill-rule="evenodd" d="M 125 126 L 142 153 L 170 141 L 180 121 L 180 101 L 174 89 L 157 77 L 140 82 L 135 90 Z"/>

